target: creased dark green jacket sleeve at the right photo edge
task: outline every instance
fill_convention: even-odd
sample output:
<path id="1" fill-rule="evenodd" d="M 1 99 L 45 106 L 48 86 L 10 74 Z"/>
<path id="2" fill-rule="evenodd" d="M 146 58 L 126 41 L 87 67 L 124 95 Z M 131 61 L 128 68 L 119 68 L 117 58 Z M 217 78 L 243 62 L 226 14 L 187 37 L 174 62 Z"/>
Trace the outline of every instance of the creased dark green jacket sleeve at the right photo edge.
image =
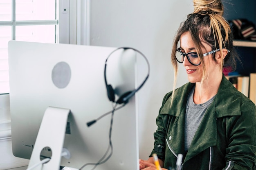
<path id="1" fill-rule="evenodd" d="M 227 118 L 226 167 L 223 170 L 255 170 L 256 107 L 253 102 L 241 104 L 241 115 Z"/>

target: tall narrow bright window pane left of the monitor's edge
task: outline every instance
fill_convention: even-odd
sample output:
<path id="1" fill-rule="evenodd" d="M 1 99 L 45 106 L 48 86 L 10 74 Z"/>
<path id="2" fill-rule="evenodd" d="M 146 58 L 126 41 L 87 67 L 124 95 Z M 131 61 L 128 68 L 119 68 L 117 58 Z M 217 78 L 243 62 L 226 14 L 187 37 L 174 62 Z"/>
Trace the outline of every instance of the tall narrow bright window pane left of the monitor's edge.
<path id="1" fill-rule="evenodd" d="M 0 93 L 9 93 L 8 41 L 11 40 L 11 26 L 0 27 Z"/>

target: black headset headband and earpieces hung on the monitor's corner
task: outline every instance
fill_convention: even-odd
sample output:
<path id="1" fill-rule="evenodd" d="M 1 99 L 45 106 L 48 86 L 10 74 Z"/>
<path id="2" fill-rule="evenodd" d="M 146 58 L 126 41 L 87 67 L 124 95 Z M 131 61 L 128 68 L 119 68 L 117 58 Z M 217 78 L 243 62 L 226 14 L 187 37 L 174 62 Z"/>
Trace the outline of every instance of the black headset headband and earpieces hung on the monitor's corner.
<path id="1" fill-rule="evenodd" d="M 128 50 L 128 49 L 132 49 L 134 50 L 135 52 L 138 52 L 139 54 L 141 54 L 142 57 L 144 57 L 144 59 L 146 60 L 147 62 L 147 65 L 148 65 L 148 74 L 146 76 L 146 78 L 144 79 L 144 81 L 141 83 L 141 85 L 139 85 L 139 87 L 137 89 L 134 89 L 132 91 L 128 91 L 128 92 L 125 92 L 124 94 L 122 94 L 119 99 L 117 101 L 115 101 L 115 90 L 113 89 L 112 85 L 108 84 L 107 83 L 107 78 L 106 78 L 106 68 L 107 68 L 107 61 L 108 61 L 108 58 L 111 56 L 111 54 L 113 54 L 115 51 L 119 50 L 119 49 L 124 49 L 124 50 Z M 148 62 L 148 59 L 145 57 L 144 54 L 142 54 L 139 50 L 136 50 L 135 48 L 130 48 L 130 47 L 120 47 L 120 48 L 117 48 L 115 49 L 114 51 L 112 51 L 107 59 L 106 59 L 106 62 L 105 62 L 105 69 L 104 69 L 104 78 L 105 78 L 105 84 L 106 84 L 106 88 L 107 88 L 107 94 L 108 94 L 108 99 L 112 102 L 115 102 L 117 104 L 126 104 L 129 99 L 135 95 L 135 93 L 137 91 L 139 91 L 139 89 L 144 85 L 144 83 L 147 81 L 148 79 L 148 76 L 149 76 L 149 72 L 150 72 L 150 67 L 149 67 L 149 62 Z"/>

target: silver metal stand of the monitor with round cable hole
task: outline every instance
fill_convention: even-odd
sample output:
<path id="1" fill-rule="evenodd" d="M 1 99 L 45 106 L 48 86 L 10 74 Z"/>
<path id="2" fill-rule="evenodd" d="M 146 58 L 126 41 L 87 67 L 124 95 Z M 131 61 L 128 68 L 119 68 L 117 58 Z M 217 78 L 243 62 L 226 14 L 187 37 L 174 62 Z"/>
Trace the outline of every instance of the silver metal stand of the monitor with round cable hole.
<path id="1" fill-rule="evenodd" d="M 59 170 L 69 113 L 70 109 L 56 107 L 45 110 L 28 168 L 40 163 L 43 152 L 48 153 L 51 159 L 33 170 Z"/>

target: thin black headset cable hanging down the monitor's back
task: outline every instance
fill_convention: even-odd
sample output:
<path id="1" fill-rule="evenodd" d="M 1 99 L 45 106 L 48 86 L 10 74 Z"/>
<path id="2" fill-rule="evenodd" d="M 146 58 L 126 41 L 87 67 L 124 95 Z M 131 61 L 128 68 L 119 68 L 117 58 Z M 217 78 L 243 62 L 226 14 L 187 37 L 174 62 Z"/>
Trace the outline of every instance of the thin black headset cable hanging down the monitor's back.
<path id="1" fill-rule="evenodd" d="M 121 109 L 122 107 L 124 107 L 124 105 L 118 107 L 117 109 Z M 103 157 L 101 159 L 99 159 L 99 161 L 97 163 L 85 163 L 83 166 L 81 166 L 81 168 L 79 168 L 79 170 L 81 170 L 82 168 L 84 168 L 85 166 L 88 166 L 88 165 L 94 165 L 94 167 L 91 169 L 91 170 L 94 170 L 98 165 L 105 163 L 112 156 L 112 154 L 113 154 L 113 145 L 112 145 L 111 136 L 112 136 L 112 125 L 113 125 L 113 119 L 114 119 L 114 112 L 115 112 L 115 110 L 117 110 L 116 106 L 117 106 L 117 104 L 113 107 L 112 111 L 109 111 L 109 112 L 103 114 L 102 116 L 100 116 L 99 118 L 97 118 L 97 120 L 99 120 L 99 119 L 103 118 L 104 116 L 106 116 L 107 114 L 112 113 L 111 114 L 111 120 L 110 120 L 110 129 L 109 129 L 109 136 L 108 136 L 109 137 L 109 144 L 108 144 L 107 151 L 105 152 Z M 108 157 L 106 157 L 109 150 L 110 150 L 110 154 L 108 155 Z M 105 157 L 106 157 L 106 159 L 105 159 Z"/>

